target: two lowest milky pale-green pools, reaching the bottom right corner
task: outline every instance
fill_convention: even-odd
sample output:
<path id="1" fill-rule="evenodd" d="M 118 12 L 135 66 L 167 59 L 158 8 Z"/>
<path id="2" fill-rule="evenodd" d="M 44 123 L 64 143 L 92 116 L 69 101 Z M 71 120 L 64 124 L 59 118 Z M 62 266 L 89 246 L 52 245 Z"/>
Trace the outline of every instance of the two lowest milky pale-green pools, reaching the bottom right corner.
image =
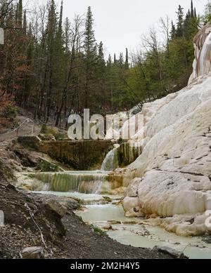
<path id="1" fill-rule="evenodd" d="M 206 244 L 199 237 L 179 237 L 160 227 L 144 224 L 142 218 L 126 218 L 121 206 L 92 205 L 86 208 L 86 211 L 76 212 L 84 222 L 91 222 L 98 227 L 105 226 L 109 221 L 122 222 L 121 225 L 113 225 L 113 230 L 108 231 L 109 237 L 121 244 L 142 248 L 168 246 L 184 252 L 191 259 L 211 259 L 211 245 Z M 127 222 L 134 223 L 127 225 Z"/>

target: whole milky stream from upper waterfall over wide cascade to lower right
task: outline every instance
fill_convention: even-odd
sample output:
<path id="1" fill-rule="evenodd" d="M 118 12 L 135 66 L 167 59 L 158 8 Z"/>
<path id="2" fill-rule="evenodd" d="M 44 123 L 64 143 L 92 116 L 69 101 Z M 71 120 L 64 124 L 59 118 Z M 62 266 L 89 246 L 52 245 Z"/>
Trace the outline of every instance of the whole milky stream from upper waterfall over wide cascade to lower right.
<path id="1" fill-rule="evenodd" d="M 211 259 L 211 240 L 208 244 L 205 237 L 179 237 L 160 227 L 152 227 L 145 218 L 126 218 L 123 196 L 102 194 L 109 192 L 113 183 L 110 183 L 109 171 L 117 166 L 115 152 L 113 149 L 108 153 L 101 171 L 20 173 L 19 186 L 38 194 L 79 199 L 83 207 L 75 214 L 121 244 L 141 248 L 166 246 L 191 259 Z"/>

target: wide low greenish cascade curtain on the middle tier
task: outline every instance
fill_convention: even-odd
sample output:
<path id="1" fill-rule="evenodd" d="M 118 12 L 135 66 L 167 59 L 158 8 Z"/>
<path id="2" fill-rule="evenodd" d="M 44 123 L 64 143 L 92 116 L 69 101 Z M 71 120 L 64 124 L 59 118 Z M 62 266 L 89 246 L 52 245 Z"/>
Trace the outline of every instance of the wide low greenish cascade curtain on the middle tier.
<path id="1" fill-rule="evenodd" d="M 96 171 L 63 172 L 63 173 L 31 173 L 30 176 L 43 182 L 52 192 L 80 192 L 84 194 L 101 194 L 108 173 Z M 34 189 L 36 190 L 36 189 Z"/>

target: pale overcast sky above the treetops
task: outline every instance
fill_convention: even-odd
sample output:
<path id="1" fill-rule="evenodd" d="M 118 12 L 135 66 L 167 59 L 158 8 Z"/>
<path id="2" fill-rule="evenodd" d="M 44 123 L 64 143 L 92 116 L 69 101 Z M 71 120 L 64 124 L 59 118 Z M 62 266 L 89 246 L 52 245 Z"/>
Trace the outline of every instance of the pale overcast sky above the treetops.
<path id="1" fill-rule="evenodd" d="M 97 41 L 103 41 L 106 55 L 118 55 L 126 47 L 135 50 L 141 34 L 158 26 L 160 17 L 169 15 L 175 21 L 179 4 L 188 11 L 191 0 L 64 0 L 64 17 L 72 19 L 91 6 Z M 207 0 L 193 0 L 193 4 L 201 14 Z"/>

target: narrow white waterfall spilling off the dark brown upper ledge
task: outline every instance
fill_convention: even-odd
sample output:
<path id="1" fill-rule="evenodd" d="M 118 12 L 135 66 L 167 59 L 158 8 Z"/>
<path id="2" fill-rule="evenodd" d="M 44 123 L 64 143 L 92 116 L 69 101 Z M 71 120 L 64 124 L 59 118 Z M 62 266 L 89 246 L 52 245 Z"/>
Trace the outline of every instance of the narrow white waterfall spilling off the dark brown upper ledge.
<path id="1" fill-rule="evenodd" d="M 116 168 L 119 168 L 119 157 L 118 157 L 119 147 L 112 149 L 104 159 L 101 166 L 101 171 L 115 171 Z"/>

